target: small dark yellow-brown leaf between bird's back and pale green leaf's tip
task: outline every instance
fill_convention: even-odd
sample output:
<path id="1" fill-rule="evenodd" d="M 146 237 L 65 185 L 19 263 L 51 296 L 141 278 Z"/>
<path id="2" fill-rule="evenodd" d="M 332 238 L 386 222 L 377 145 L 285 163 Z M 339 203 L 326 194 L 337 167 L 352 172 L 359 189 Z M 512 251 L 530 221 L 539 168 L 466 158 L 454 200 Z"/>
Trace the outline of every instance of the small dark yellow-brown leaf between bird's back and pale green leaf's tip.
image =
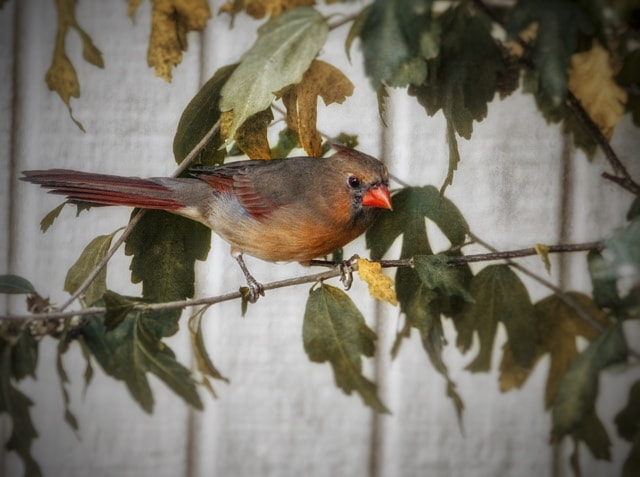
<path id="1" fill-rule="evenodd" d="M 271 159 L 267 128 L 272 120 L 273 112 L 269 107 L 248 118 L 244 124 L 237 129 L 234 137 L 236 146 L 250 159 Z M 222 136 L 226 137 L 229 134 L 232 124 L 233 113 L 222 113 L 222 123 L 220 127 Z"/>

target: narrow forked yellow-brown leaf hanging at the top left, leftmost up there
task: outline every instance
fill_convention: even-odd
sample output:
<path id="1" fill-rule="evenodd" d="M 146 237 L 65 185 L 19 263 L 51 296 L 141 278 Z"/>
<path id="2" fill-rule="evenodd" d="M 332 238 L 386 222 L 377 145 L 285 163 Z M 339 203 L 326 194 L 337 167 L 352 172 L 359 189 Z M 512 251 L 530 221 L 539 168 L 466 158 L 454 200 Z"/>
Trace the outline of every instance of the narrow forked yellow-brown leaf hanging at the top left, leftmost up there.
<path id="1" fill-rule="evenodd" d="M 51 66 L 45 75 L 45 82 L 51 91 L 55 91 L 67 105 L 71 120 L 84 132 L 82 124 L 78 122 L 71 111 L 71 98 L 80 97 L 80 84 L 73 64 L 66 55 L 65 39 L 67 32 L 75 28 L 80 34 L 83 45 L 84 59 L 99 68 L 104 67 L 102 53 L 96 48 L 91 37 L 80 27 L 75 13 L 75 0 L 56 0 L 58 10 L 58 31 L 53 50 Z"/>

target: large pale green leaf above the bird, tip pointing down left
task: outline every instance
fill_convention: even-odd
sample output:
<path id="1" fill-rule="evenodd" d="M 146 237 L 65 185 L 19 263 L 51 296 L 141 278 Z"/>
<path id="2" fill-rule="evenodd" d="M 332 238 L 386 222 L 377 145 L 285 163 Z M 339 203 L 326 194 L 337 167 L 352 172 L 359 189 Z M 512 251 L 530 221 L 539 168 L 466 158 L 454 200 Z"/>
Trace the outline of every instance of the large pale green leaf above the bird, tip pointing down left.
<path id="1" fill-rule="evenodd" d="M 258 39 L 222 88 L 220 110 L 233 111 L 227 143 L 248 118 L 271 105 L 274 92 L 302 80 L 328 31 L 324 17 L 310 7 L 287 10 L 258 29 Z"/>

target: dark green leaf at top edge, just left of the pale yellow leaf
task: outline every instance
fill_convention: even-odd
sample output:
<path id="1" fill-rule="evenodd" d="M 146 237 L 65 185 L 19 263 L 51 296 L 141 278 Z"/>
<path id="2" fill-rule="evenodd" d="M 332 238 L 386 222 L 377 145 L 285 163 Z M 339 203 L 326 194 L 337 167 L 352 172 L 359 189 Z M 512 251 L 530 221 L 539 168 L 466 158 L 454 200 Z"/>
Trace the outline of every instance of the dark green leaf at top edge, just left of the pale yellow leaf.
<path id="1" fill-rule="evenodd" d="M 567 70 L 580 34 L 594 31 L 584 8 L 581 2 L 569 0 L 519 0 L 507 17 L 511 38 L 538 23 L 533 62 L 540 72 L 540 88 L 556 105 L 567 94 Z"/>

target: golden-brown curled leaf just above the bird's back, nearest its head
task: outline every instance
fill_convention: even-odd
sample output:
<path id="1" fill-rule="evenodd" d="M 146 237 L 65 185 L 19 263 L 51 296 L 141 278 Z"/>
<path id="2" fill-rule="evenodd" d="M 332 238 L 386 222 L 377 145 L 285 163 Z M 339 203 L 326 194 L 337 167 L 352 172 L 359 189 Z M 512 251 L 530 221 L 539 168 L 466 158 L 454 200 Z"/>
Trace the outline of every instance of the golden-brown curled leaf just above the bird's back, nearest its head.
<path id="1" fill-rule="evenodd" d="M 302 81 L 287 88 L 282 101 L 287 108 L 287 125 L 298 133 L 300 144 L 312 157 L 322 155 L 322 138 L 316 129 L 318 96 L 325 105 L 342 103 L 353 93 L 353 83 L 338 68 L 314 60 Z"/>

